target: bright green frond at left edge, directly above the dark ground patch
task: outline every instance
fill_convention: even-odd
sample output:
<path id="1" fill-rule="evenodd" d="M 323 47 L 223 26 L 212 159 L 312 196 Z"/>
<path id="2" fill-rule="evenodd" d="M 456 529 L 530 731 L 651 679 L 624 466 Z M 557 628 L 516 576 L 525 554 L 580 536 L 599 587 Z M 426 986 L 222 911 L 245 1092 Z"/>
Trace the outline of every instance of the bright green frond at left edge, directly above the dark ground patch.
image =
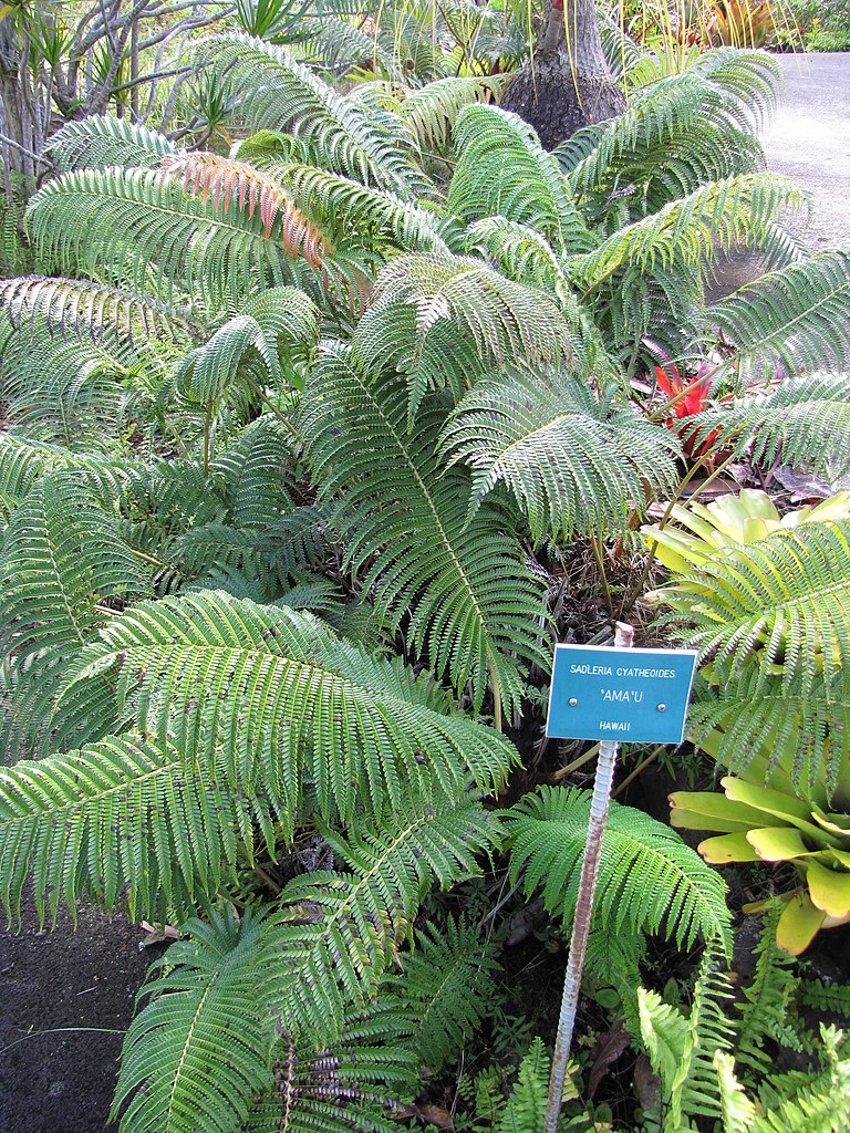
<path id="1" fill-rule="evenodd" d="M 171 743 L 113 735 L 79 751 L 0 770 L 0 863 L 9 919 L 31 878 L 40 917 L 56 923 L 88 898 L 133 919 L 185 918 L 220 892 L 263 807 L 187 767 Z"/>

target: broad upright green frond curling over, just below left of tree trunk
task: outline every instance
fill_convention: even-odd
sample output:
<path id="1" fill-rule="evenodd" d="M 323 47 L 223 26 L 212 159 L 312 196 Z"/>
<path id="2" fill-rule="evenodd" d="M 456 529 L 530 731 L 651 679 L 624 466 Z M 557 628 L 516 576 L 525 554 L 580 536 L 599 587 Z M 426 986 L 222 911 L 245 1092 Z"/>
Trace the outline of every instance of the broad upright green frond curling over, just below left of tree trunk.
<path id="1" fill-rule="evenodd" d="M 558 162 L 520 118 L 496 107 L 467 107 L 458 114 L 454 139 L 450 212 L 464 221 L 500 214 L 570 254 L 594 246 Z"/>

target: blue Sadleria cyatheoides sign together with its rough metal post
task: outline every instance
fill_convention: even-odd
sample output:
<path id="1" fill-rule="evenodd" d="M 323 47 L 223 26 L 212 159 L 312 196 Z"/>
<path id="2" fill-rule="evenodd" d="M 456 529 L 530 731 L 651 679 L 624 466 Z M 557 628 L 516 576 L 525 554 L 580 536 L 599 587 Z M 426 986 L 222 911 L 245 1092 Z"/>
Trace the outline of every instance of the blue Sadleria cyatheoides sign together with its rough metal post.
<path id="1" fill-rule="evenodd" d="M 602 742 L 549 1080 L 545 1133 L 556 1133 L 561 1114 L 620 741 L 681 743 L 685 738 L 697 654 L 685 649 L 632 649 L 634 638 L 634 628 L 618 622 L 613 649 L 592 646 L 555 649 L 546 735 Z M 623 653 L 618 655 L 618 650 Z"/>

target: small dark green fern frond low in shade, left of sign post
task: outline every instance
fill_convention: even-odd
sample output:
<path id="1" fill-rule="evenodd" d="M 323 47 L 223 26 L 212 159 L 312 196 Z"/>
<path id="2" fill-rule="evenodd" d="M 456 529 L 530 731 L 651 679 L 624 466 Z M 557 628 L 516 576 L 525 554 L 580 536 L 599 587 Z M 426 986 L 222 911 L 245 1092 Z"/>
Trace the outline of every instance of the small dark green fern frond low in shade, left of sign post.
<path id="1" fill-rule="evenodd" d="M 402 1002 L 416 1019 L 419 1058 L 436 1071 L 461 1049 L 495 996 L 495 949 L 465 920 L 449 918 L 441 928 L 417 932 L 405 956 Z"/>

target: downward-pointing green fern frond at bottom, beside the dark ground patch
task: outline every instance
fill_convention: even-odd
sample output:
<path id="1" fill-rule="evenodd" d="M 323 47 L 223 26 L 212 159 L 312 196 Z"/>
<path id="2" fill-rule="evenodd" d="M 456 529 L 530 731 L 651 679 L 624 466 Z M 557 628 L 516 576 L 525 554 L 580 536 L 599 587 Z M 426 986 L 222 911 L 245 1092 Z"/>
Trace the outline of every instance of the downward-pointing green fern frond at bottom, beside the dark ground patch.
<path id="1" fill-rule="evenodd" d="M 273 1081 L 273 1032 L 256 995 L 262 917 L 228 909 L 186 926 L 148 974 L 130 1024 L 110 1114 L 121 1133 L 222 1133 L 244 1127 Z"/>

